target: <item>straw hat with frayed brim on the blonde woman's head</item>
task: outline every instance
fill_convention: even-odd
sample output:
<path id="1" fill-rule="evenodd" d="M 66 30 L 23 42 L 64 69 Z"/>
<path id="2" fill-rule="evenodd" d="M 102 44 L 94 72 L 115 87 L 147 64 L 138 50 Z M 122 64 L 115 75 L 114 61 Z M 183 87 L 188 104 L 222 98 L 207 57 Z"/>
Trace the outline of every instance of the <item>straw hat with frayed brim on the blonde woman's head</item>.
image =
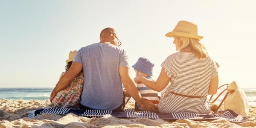
<path id="1" fill-rule="evenodd" d="M 167 37 L 182 36 L 187 38 L 202 39 L 203 36 L 198 35 L 198 26 L 188 21 L 179 21 L 172 32 L 166 34 Z"/>

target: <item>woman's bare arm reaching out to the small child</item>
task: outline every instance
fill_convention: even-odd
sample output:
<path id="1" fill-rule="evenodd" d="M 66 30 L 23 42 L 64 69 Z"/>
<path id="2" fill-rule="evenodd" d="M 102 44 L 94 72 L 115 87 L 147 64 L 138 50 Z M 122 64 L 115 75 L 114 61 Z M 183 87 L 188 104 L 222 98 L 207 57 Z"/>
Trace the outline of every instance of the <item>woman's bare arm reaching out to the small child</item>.
<path id="1" fill-rule="evenodd" d="M 137 76 L 134 78 L 135 82 L 142 82 L 147 87 L 157 92 L 160 92 L 161 90 L 163 90 L 168 85 L 170 80 L 171 78 L 167 76 L 166 71 L 163 67 L 160 75 L 158 76 L 157 81 L 148 80 L 143 76 Z"/>

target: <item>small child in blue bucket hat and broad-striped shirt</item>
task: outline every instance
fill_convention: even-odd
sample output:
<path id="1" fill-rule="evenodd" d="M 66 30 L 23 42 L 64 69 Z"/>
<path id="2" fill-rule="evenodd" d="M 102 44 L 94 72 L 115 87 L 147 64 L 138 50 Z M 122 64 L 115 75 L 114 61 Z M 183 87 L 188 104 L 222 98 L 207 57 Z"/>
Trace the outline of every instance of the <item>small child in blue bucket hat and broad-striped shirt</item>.
<path id="1" fill-rule="evenodd" d="M 132 67 L 134 68 L 136 76 L 144 76 L 147 79 L 151 79 L 151 76 L 153 76 L 152 70 L 153 70 L 154 64 L 147 58 L 140 57 L 136 62 L 136 64 L 134 64 Z M 157 91 L 149 89 L 142 83 L 136 83 L 136 84 L 141 96 L 144 99 L 147 99 L 148 101 L 154 103 L 155 105 L 158 104 L 159 97 L 158 97 Z M 135 111 L 141 111 L 141 110 L 142 108 L 140 107 L 140 105 L 135 103 Z"/>

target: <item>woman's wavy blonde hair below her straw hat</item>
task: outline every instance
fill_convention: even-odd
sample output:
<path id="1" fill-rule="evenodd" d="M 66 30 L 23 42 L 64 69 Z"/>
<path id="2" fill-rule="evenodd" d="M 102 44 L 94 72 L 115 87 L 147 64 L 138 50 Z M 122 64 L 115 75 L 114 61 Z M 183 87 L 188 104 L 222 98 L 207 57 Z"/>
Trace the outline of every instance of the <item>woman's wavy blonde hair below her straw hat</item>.
<path id="1" fill-rule="evenodd" d="M 198 39 L 180 36 L 175 36 L 175 38 L 178 39 L 176 44 L 177 50 L 182 52 L 184 48 L 187 48 L 198 58 L 207 58 L 208 52 L 206 51 L 204 44 L 201 44 Z"/>

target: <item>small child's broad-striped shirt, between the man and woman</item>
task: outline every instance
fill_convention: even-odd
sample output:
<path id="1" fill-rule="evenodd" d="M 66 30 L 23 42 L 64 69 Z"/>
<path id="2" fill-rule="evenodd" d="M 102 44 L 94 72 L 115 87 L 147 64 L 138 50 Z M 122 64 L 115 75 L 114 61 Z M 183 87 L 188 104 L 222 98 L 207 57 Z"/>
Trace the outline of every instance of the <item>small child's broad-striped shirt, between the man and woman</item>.
<path id="1" fill-rule="evenodd" d="M 151 79 L 151 77 L 145 77 L 146 79 Z M 137 83 L 136 83 L 137 84 Z M 140 95 L 144 98 L 149 100 L 150 102 L 154 103 L 155 105 L 158 104 L 159 97 L 157 91 L 151 90 L 145 84 L 137 84 L 137 88 L 140 92 Z M 139 109 L 142 109 L 139 104 L 137 104 Z"/>

